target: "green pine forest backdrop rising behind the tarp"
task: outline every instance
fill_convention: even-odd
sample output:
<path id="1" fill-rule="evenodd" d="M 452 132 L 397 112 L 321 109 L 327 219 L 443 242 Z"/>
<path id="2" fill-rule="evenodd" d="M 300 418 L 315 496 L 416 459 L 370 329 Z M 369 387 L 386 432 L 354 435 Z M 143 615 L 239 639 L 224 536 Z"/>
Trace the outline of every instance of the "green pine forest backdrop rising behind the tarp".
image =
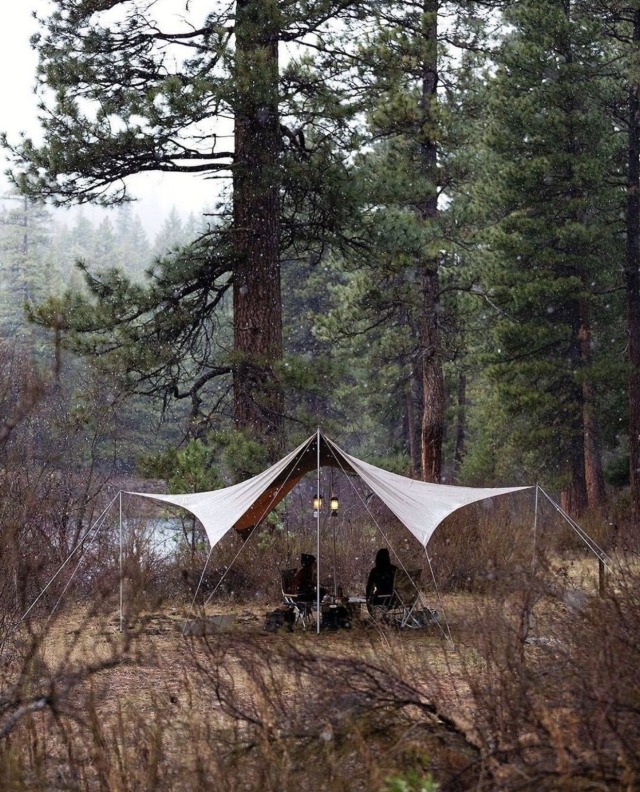
<path id="1" fill-rule="evenodd" d="M 400 472 L 546 481 L 576 511 L 605 503 L 605 471 L 627 480 L 640 16 L 52 8 L 34 41 L 44 142 L 12 146 L 23 197 L 0 214 L 0 323 L 15 334 L 28 304 L 134 397 L 125 423 L 167 418 L 187 441 L 154 463 L 170 486 L 252 475 L 285 417 L 287 445 L 321 424 Z M 224 189 L 150 239 L 129 177 L 154 170 Z M 64 226 L 43 197 L 118 206 Z"/>

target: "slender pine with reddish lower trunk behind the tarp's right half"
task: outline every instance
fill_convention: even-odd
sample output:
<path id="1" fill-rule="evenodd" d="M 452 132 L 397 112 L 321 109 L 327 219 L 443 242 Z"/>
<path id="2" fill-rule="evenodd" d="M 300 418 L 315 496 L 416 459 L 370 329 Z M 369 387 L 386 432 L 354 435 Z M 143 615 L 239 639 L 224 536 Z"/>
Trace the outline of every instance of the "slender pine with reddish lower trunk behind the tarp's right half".
<path id="1" fill-rule="evenodd" d="M 444 372 L 455 348 L 446 304 L 453 300 L 444 295 L 453 294 L 451 279 L 459 280 L 455 251 L 464 233 L 454 230 L 452 202 L 462 174 L 458 150 L 468 145 L 463 108 L 473 59 L 465 50 L 477 48 L 482 34 L 473 4 L 446 6 L 456 21 L 456 35 L 449 37 L 458 48 L 453 65 L 444 42 L 450 31 L 438 28 L 444 12 L 431 2 L 389 3 L 359 52 L 372 142 L 358 166 L 367 195 L 361 236 L 371 244 L 351 258 L 367 275 L 352 278 L 355 294 L 349 292 L 359 308 L 353 333 L 369 326 L 372 347 L 390 372 L 395 368 L 394 420 L 413 472 L 430 481 L 443 474 Z M 376 356 L 377 372 L 381 364 Z"/>

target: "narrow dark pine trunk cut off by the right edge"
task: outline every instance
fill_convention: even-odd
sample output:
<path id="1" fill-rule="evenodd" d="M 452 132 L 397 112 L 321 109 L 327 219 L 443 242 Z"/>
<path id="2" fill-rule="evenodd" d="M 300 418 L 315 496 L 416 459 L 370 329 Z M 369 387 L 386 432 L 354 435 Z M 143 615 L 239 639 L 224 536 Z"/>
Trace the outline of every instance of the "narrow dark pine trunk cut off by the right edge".
<path id="1" fill-rule="evenodd" d="M 633 41 L 640 45 L 640 10 L 634 13 Z M 629 483 L 631 519 L 640 524 L 640 85 L 629 88 L 627 147 L 627 322 L 629 328 Z"/>

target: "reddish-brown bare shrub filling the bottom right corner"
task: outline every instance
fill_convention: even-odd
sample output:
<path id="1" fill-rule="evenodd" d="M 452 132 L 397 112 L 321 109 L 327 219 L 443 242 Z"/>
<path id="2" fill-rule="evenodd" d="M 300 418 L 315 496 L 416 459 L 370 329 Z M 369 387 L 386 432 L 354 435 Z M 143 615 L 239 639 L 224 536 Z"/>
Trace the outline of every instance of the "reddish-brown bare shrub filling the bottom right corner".
<path id="1" fill-rule="evenodd" d="M 617 586 L 598 598 L 530 578 L 487 603 L 466 680 L 499 789 L 637 786 L 640 581 L 626 571 Z"/>

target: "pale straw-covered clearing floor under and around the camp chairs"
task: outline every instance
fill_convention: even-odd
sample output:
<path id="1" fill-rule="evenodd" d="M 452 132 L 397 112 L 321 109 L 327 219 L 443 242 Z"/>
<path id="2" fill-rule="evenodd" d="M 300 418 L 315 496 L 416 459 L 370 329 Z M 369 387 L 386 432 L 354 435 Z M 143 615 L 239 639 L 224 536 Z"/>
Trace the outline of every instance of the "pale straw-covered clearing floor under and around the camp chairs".
<path id="1" fill-rule="evenodd" d="M 598 591 L 597 564 L 590 561 L 570 562 L 559 566 L 559 574 L 571 582 L 571 591 L 591 596 Z M 96 609 L 88 606 L 67 608 L 56 616 L 46 631 L 41 645 L 40 659 L 52 672 L 61 667 L 81 667 L 106 663 L 119 656 L 126 643 L 128 660 L 113 663 L 109 674 L 119 690 L 131 682 L 132 666 L 149 666 L 151 676 L 159 681 L 165 677 L 168 687 L 177 682 L 176 669 L 185 667 L 185 658 L 193 658 L 199 652 L 210 652 L 211 646 L 238 646 L 250 641 L 254 647 L 262 647 L 265 653 L 294 651 L 314 653 L 323 657 L 375 658 L 382 650 L 390 647 L 428 654 L 431 667 L 447 669 L 451 673 L 456 666 L 458 646 L 473 646 L 483 632 L 492 607 L 491 597 L 471 593 L 449 593 L 437 600 L 428 599 L 440 615 L 437 624 L 423 629 L 389 629 L 374 623 L 362 606 L 351 629 L 316 630 L 316 624 L 306 631 L 296 625 L 293 632 L 284 626 L 268 631 L 267 614 L 282 607 L 281 602 L 220 602 L 210 603 L 205 611 L 195 613 L 188 606 L 163 604 L 158 607 L 138 607 L 135 614 L 121 620 L 118 608 Z M 503 603 L 504 604 L 504 603 Z M 508 606 L 508 603 L 506 603 Z M 126 605 L 126 603 L 125 603 Z M 513 601 L 515 611 L 521 606 L 521 598 Z M 557 604 L 556 606 L 557 607 Z M 544 635 L 546 630 L 544 603 L 536 606 L 539 616 L 535 620 L 535 632 Z M 226 624 L 219 633 L 209 630 L 212 621 L 224 617 Z M 200 626 L 204 629 L 200 629 Z M 205 633 L 203 635 L 203 633 Z M 204 647 L 204 650 L 202 649 Z M 260 649 L 259 649 L 260 650 Z M 260 650 L 262 651 L 262 650 Z M 140 669 L 134 676 L 138 677 Z M 136 686 L 141 684 L 137 679 Z M 158 689 L 158 685 L 154 687 Z"/>

